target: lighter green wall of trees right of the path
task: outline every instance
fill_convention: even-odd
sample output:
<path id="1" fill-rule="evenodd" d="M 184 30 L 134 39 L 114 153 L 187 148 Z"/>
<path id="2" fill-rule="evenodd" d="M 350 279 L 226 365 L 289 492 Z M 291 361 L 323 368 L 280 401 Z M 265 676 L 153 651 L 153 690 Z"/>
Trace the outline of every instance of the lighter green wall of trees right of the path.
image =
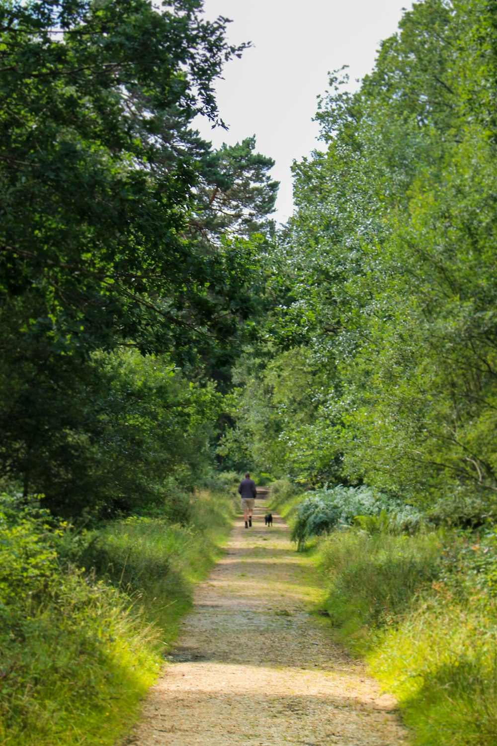
<path id="1" fill-rule="evenodd" d="M 238 460 L 494 515 L 496 79 L 482 0 L 414 4 L 357 93 L 332 76 L 324 148 L 294 167 L 276 336 L 237 374 Z"/>

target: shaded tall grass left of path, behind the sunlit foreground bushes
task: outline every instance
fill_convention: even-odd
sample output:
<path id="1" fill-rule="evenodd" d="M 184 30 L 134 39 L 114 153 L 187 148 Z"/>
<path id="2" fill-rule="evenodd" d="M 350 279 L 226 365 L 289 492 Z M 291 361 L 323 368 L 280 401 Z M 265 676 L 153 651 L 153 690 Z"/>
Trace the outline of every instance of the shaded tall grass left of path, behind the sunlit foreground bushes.
<path id="1" fill-rule="evenodd" d="M 191 604 L 195 581 L 205 577 L 221 554 L 234 515 L 227 495 L 197 491 L 188 524 L 162 518 L 125 518 L 107 524 L 80 554 L 99 577 L 135 595 L 149 621 L 174 639 L 177 621 Z"/>

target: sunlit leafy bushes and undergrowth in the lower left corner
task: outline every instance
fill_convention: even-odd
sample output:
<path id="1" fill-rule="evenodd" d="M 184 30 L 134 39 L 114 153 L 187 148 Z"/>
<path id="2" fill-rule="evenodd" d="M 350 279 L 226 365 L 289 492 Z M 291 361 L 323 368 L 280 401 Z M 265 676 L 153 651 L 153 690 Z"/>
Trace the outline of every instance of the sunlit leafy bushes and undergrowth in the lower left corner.
<path id="1" fill-rule="evenodd" d="M 98 724 L 109 743 L 107 727 L 112 732 L 116 722 L 108 698 L 133 706 L 150 686 L 158 665 L 153 635 L 127 612 L 129 600 L 60 566 L 64 527 L 54 531 L 48 515 L 25 509 L 19 516 L 11 501 L 2 503 L 1 740 L 70 743 L 84 720 L 89 737 Z"/>

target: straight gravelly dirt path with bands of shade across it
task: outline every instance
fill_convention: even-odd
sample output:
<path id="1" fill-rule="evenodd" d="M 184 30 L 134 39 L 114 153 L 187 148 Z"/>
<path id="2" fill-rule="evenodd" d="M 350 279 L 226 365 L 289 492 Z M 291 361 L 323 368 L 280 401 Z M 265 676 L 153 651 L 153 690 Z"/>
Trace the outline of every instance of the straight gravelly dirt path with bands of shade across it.
<path id="1" fill-rule="evenodd" d="M 396 746 L 407 743 L 364 668 L 309 615 L 320 589 L 288 527 L 239 518 L 127 739 L 138 746 Z"/>

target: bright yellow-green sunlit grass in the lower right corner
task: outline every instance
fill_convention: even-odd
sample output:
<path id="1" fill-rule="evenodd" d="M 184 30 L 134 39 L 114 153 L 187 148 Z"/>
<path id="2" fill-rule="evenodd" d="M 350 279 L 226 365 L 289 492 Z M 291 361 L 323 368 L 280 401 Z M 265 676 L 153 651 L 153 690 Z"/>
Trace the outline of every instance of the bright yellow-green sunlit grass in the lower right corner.
<path id="1" fill-rule="evenodd" d="M 421 601 L 421 599 L 420 599 Z M 432 589 L 370 653 L 417 746 L 497 744 L 497 615 Z"/>

